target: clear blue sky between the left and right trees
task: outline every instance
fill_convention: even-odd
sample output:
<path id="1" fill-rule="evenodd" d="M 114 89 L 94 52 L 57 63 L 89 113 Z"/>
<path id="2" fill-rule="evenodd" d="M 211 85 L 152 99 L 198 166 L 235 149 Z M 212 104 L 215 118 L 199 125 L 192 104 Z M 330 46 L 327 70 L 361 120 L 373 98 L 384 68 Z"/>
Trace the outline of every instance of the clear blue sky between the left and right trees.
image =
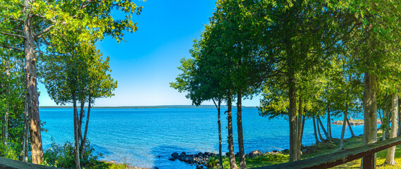
<path id="1" fill-rule="evenodd" d="M 180 73 L 180 58 L 190 57 L 192 40 L 199 38 L 209 23 L 216 0 L 147 0 L 137 4 L 143 6 L 142 13 L 133 18 L 138 30 L 125 33 L 127 42 L 107 37 L 97 43 L 104 57 L 110 57 L 111 76 L 118 87 L 115 96 L 97 99 L 95 106 L 190 105 L 185 93 L 172 89 L 169 82 Z M 44 85 L 38 87 L 39 106 L 56 106 Z M 259 106 L 259 97 L 242 104 Z"/>

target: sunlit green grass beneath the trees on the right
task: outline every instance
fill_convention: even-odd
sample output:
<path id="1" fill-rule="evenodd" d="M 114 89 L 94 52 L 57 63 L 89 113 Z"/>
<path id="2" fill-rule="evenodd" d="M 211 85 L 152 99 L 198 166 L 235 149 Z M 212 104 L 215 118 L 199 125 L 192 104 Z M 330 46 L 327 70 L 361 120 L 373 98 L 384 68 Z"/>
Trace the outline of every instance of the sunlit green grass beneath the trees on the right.
<path id="1" fill-rule="evenodd" d="M 381 133 L 378 133 L 378 139 L 381 138 Z M 325 154 L 331 154 L 334 151 L 337 151 L 338 149 L 338 143 L 340 142 L 340 139 L 333 139 L 333 142 L 331 143 L 320 143 L 320 144 L 315 144 L 312 146 L 308 146 L 309 149 L 311 150 L 310 152 L 306 154 L 302 154 L 301 158 L 306 159 L 306 158 L 311 158 L 314 156 L 322 156 Z M 357 146 L 362 146 L 363 142 L 363 135 L 357 136 L 354 138 L 350 139 L 345 139 L 344 140 L 344 149 L 352 149 Z M 401 168 L 401 145 L 396 146 L 395 149 L 395 161 L 397 162 L 397 165 L 382 165 L 385 161 L 385 156 L 387 155 L 387 150 L 379 151 L 376 155 L 376 168 L 381 168 L 381 169 L 390 169 L 390 168 Z M 288 154 L 268 154 L 264 156 L 258 156 L 255 158 L 247 158 L 247 168 L 255 168 L 255 167 L 261 167 L 261 166 L 266 166 L 266 165 L 274 165 L 278 163 L 288 163 Z M 211 158 L 211 163 L 218 165 L 218 161 L 216 161 L 216 158 Z M 239 158 L 235 158 L 235 161 L 237 162 L 237 165 L 239 165 Z M 357 159 L 355 161 L 351 161 L 349 163 L 345 163 L 343 165 L 338 165 L 334 168 L 360 168 L 361 165 L 361 159 Z M 224 168 L 230 168 L 230 163 L 228 157 L 223 157 L 223 166 Z"/>

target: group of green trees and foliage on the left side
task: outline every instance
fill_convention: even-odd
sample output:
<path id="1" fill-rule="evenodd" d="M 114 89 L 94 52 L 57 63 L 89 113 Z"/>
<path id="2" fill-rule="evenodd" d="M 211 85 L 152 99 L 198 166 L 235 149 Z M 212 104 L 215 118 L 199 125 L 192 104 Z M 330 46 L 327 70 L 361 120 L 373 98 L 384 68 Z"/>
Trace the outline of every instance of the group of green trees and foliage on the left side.
<path id="1" fill-rule="evenodd" d="M 42 148 L 39 80 L 56 104 L 73 104 L 71 156 L 75 168 L 81 168 L 90 156 L 85 147 L 90 108 L 95 99 L 113 96 L 117 87 L 109 57 L 96 43 L 104 37 L 124 40 L 125 32 L 137 30 L 132 15 L 141 11 L 130 0 L 0 1 L 0 156 L 35 164 L 51 160 L 44 159 Z"/>

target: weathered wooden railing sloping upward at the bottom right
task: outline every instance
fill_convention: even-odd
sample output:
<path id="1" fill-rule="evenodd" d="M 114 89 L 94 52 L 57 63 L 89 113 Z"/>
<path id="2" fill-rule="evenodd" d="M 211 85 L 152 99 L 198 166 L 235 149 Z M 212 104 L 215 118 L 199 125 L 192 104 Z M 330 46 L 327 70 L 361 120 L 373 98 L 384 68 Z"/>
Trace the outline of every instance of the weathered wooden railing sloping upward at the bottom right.
<path id="1" fill-rule="evenodd" d="M 354 161 L 358 158 L 364 158 L 364 168 L 374 168 L 374 154 L 378 151 L 388 149 L 392 146 L 401 144 L 401 137 L 388 139 L 374 144 L 367 144 L 364 146 L 358 146 L 353 149 L 345 151 L 335 152 L 333 154 L 326 154 L 323 156 L 316 156 L 313 158 L 307 158 L 302 161 L 294 161 L 291 163 L 281 163 L 278 165 L 269 165 L 259 167 L 258 169 L 295 169 L 295 168 L 332 168 L 343 163 Z"/>

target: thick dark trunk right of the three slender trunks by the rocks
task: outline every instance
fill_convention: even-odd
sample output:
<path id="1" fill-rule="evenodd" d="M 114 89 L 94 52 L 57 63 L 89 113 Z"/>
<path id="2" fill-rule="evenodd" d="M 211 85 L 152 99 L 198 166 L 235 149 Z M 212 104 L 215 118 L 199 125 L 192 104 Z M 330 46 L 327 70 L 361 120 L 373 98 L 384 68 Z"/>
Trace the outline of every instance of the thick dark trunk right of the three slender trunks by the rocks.
<path id="1" fill-rule="evenodd" d="M 290 65 L 289 65 L 290 66 Z M 288 109 L 288 120 L 290 123 L 290 162 L 297 161 L 298 143 L 297 143 L 297 99 L 295 97 L 295 73 L 290 67 L 288 77 L 288 96 L 290 99 L 290 108 Z"/>

